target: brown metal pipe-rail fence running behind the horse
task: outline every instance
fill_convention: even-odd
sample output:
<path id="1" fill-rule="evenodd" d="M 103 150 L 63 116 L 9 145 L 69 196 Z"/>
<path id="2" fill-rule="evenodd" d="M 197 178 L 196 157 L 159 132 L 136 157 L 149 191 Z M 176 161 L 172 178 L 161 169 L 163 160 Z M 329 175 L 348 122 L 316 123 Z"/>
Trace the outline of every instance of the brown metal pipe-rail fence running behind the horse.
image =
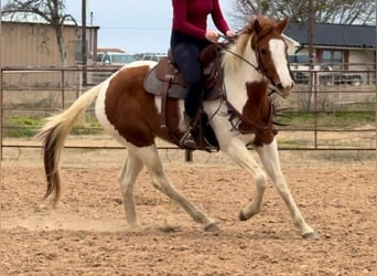
<path id="1" fill-rule="evenodd" d="M 119 67 L 65 67 L 1 70 L 1 147 L 41 147 L 36 141 L 10 139 L 31 137 L 41 120 L 69 106 L 83 92 Z M 294 72 L 306 74 L 288 99 L 273 96 L 278 109 L 279 147 L 283 150 L 375 150 L 375 71 Z M 323 76 L 327 76 L 324 78 Z M 342 76 L 343 75 L 343 76 Z M 344 76 L 360 76 L 346 82 Z M 100 76 L 100 77 L 99 77 Z M 87 84 L 83 84 L 86 79 Z M 326 82 L 324 82 L 326 79 Z M 359 79 L 358 79 L 359 81 Z M 283 110 L 279 116 L 279 110 Z M 288 118 L 287 118 L 288 117 Z M 98 135 L 94 108 L 86 113 L 75 132 Z M 120 149 L 117 145 L 87 146 L 67 142 L 67 148 Z M 174 146 L 161 146 L 176 149 Z"/>

